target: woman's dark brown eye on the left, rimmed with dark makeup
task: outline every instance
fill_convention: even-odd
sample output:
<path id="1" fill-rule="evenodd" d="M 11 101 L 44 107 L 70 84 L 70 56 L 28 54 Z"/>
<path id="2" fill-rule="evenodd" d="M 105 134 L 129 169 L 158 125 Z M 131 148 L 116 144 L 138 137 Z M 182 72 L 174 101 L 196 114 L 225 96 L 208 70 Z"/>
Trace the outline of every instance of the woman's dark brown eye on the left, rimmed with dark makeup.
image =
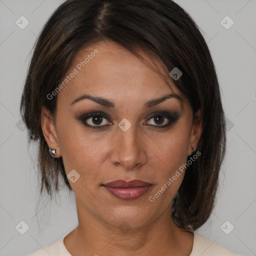
<path id="1" fill-rule="evenodd" d="M 111 122 L 109 123 L 109 117 L 103 112 L 83 114 L 77 119 L 90 128 L 102 128 L 102 126 L 112 124 Z"/>

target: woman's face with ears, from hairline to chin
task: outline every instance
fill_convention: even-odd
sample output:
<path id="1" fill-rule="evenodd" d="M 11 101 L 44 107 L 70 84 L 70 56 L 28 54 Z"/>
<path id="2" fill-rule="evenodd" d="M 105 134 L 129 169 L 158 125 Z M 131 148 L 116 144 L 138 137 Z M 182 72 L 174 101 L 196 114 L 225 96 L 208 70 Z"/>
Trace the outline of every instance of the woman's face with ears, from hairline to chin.
<path id="1" fill-rule="evenodd" d="M 197 145 L 199 115 L 193 121 L 187 99 L 173 83 L 167 85 L 111 41 L 78 51 L 66 75 L 70 80 L 57 92 L 54 122 L 42 108 L 41 124 L 48 146 L 62 156 L 67 176 L 74 176 L 69 183 L 78 214 L 133 227 L 163 213 L 169 217 L 184 172 L 170 185 L 166 182 Z M 118 179 L 149 186 L 118 190 L 104 185 Z M 154 196 L 164 184 L 165 191 Z"/>

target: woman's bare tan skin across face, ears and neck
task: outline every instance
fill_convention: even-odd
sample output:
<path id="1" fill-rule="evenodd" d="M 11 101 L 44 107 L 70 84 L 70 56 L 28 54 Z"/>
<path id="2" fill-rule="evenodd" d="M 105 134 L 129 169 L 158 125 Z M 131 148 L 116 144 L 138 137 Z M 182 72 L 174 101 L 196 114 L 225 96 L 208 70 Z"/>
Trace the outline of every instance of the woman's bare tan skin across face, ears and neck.
<path id="1" fill-rule="evenodd" d="M 75 194 L 78 226 L 65 236 L 64 245 L 73 256 L 189 255 L 193 234 L 180 230 L 171 219 L 171 201 L 184 173 L 154 202 L 148 198 L 196 147 L 201 134 L 200 111 L 193 120 L 189 102 L 160 63 L 156 61 L 171 86 L 131 52 L 111 41 L 80 49 L 66 74 L 95 48 L 99 52 L 58 92 L 55 116 L 41 109 L 41 127 L 48 146 L 56 149 L 55 157 L 62 156 L 66 174 L 75 169 L 80 175 L 74 183 L 69 180 Z M 172 92 L 183 103 L 172 97 L 143 108 L 146 101 Z M 82 94 L 106 98 L 115 107 L 101 106 L 90 99 L 70 105 Z M 99 125 L 112 125 L 93 129 L 76 119 L 95 111 L 110 118 L 102 117 Z M 168 119 L 157 123 L 151 117 L 156 111 L 177 112 L 179 117 L 169 127 L 157 128 Z M 131 124 L 126 131 L 118 127 L 123 118 Z M 92 118 L 87 123 L 97 125 Z M 121 200 L 101 186 L 115 179 L 140 179 L 153 186 L 137 199 Z M 129 225 L 126 233 L 119 228 L 123 222 Z"/>

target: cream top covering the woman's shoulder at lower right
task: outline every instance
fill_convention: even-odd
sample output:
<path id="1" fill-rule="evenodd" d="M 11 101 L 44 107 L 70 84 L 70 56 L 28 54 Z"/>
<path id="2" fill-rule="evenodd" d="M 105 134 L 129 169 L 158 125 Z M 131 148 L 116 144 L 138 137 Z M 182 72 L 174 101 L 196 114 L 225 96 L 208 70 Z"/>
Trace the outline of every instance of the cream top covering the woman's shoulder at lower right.
<path id="1" fill-rule="evenodd" d="M 210 238 L 194 231 L 194 243 L 190 256 L 242 256 L 237 254 Z"/>

